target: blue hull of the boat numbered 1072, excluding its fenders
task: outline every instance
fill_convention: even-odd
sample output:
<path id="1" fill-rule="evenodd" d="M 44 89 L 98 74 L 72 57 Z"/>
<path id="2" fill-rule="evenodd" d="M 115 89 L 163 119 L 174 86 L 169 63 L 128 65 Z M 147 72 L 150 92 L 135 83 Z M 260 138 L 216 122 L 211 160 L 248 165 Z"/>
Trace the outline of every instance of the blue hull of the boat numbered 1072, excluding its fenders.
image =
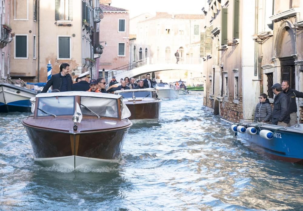
<path id="1" fill-rule="evenodd" d="M 281 129 L 276 131 L 274 138 L 268 140 L 260 136 L 260 128 L 272 132 L 275 129 Z M 256 135 L 239 132 L 236 135 L 251 148 L 273 160 L 303 164 L 303 135 L 301 133 L 295 133 L 291 128 L 285 130 L 280 126 L 261 126 L 260 128 L 257 128 Z"/>

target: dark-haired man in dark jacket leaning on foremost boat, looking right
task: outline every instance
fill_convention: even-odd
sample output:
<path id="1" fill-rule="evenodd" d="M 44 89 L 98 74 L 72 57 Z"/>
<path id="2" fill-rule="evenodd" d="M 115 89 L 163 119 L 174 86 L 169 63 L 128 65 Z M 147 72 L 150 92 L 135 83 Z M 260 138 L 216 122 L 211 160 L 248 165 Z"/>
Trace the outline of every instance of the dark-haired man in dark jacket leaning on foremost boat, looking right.
<path id="1" fill-rule="evenodd" d="M 52 89 L 58 89 L 60 92 L 72 91 L 72 76 L 68 74 L 69 64 L 62 63 L 60 65 L 60 73 L 52 75 L 51 79 L 48 80 L 41 93 L 46 93 L 49 87 L 53 86 Z"/>

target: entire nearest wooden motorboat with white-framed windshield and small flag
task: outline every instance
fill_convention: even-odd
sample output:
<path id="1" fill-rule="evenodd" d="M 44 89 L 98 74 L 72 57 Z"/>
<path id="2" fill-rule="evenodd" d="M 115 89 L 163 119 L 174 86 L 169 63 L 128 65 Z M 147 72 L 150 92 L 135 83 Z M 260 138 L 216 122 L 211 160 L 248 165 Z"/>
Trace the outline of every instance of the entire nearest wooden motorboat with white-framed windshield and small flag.
<path id="1" fill-rule="evenodd" d="M 34 160 L 45 166 L 118 163 L 131 115 L 122 96 L 92 92 L 38 94 L 24 119 Z"/>

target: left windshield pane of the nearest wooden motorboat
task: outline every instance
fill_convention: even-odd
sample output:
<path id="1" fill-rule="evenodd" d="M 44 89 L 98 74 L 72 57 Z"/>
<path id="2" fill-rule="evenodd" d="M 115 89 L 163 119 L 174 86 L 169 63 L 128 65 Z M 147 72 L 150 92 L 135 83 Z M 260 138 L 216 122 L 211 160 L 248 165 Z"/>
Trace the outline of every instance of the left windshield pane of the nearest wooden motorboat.
<path id="1" fill-rule="evenodd" d="M 37 116 L 73 115 L 74 96 L 57 96 L 39 98 Z"/>

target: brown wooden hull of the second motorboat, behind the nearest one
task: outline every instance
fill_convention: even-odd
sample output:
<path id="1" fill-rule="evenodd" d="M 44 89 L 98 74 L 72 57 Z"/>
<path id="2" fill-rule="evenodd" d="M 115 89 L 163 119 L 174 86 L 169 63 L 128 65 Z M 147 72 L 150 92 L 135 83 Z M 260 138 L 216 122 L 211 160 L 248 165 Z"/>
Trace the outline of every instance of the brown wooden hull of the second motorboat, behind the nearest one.
<path id="1" fill-rule="evenodd" d="M 157 101 L 126 101 L 127 108 L 131 112 L 128 118 L 132 123 L 158 122 L 161 111 L 161 100 Z"/>

